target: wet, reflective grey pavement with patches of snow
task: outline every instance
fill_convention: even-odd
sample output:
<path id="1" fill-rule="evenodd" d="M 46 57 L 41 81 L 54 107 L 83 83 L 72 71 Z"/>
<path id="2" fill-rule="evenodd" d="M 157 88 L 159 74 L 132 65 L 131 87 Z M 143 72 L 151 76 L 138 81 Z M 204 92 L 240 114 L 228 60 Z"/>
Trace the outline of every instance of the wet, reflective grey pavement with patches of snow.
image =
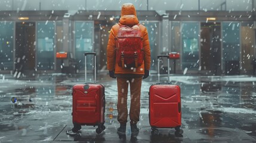
<path id="1" fill-rule="evenodd" d="M 83 74 L 19 79 L 0 74 L 0 142 L 256 142 L 255 76 L 172 74 L 171 83 L 181 86 L 182 135 L 166 128 L 151 133 L 148 92 L 156 81 L 155 74 L 143 80 L 140 133 L 131 135 L 127 126 L 127 134 L 119 136 L 116 80 L 98 74 L 97 82 L 106 89 L 106 129 L 97 134 L 97 127 L 82 126 L 78 135 L 70 136 L 66 130 L 73 128 L 72 86 L 84 83 Z"/>

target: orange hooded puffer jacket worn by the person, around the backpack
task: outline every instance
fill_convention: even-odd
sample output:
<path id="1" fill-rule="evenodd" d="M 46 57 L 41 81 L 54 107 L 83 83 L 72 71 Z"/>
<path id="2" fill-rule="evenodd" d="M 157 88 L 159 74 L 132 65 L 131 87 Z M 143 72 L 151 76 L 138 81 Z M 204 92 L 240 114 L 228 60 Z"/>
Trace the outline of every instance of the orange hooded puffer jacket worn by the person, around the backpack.
<path id="1" fill-rule="evenodd" d="M 124 4 L 122 5 L 121 18 L 119 24 L 134 26 L 138 24 L 138 18 L 134 5 Z M 143 38 L 143 48 L 144 48 L 144 62 L 141 66 L 134 69 L 125 69 L 118 66 L 115 61 L 116 57 L 116 41 L 115 38 L 118 35 L 119 24 L 115 24 L 110 30 L 109 42 L 107 43 L 107 70 L 115 70 L 115 74 L 144 74 L 144 70 L 150 69 L 150 45 L 149 36 L 147 34 L 147 29 L 145 26 L 139 24 L 141 30 L 141 38 Z"/>

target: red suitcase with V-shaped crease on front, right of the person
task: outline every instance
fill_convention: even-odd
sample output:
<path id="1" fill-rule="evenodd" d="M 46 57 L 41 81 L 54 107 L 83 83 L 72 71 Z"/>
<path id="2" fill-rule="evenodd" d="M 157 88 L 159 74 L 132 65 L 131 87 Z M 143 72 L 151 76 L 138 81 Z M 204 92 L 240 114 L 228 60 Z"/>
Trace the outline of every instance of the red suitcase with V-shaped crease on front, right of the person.
<path id="1" fill-rule="evenodd" d="M 160 83 L 160 57 L 168 58 L 168 83 Z M 183 133 L 180 86 L 169 83 L 169 55 L 158 55 L 158 83 L 149 88 L 149 122 L 153 134 L 159 132 L 156 128 L 175 128 L 175 133 Z"/>

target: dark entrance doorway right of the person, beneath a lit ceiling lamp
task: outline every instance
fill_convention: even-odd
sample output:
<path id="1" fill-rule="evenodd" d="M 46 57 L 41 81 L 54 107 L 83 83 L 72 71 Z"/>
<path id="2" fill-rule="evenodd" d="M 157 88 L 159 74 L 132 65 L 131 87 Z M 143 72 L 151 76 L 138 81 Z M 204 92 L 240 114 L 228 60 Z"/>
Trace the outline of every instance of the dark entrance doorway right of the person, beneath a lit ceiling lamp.
<path id="1" fill-rule="evenodd" d="M 201 70 L 221 74 L 220 23 L 201 23 Z"/>

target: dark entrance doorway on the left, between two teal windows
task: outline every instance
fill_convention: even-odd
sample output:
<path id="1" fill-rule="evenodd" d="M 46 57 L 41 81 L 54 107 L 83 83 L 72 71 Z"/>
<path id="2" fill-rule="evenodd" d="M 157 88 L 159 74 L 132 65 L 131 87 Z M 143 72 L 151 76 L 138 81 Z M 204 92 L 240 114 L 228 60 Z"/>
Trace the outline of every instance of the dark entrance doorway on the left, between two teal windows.
<path id="1" fill-rule="evenodd" d="M 16 23 L 15 70 L 27 73 L 35 70 L 35 23 Z M 17 73 L 16 72 L 16 73 Z"/>

